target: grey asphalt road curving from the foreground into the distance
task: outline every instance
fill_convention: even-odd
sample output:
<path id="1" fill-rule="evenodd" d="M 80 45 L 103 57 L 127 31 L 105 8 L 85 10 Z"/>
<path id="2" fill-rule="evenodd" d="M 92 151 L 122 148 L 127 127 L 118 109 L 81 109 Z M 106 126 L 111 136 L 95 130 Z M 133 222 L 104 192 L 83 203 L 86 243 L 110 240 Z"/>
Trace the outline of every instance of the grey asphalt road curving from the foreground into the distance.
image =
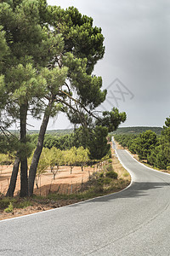
<path id="1" fill-rule="evenodd" d="M 120 193 L 0 221 L 0 255 L 170 255 L 170 176 L 117 150 L 133 183 Z"/>

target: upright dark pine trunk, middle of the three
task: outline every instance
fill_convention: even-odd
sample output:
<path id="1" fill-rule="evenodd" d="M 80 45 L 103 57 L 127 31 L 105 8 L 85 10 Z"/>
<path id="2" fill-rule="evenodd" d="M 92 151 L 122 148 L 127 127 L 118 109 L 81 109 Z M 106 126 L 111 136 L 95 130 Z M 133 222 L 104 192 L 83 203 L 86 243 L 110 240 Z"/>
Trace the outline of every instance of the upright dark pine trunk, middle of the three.
<path id="1" fill-rule="evenodd" d="M 20 143 L 26 146 L 26 116 L 27 105 L 20 106 Z M 28 165 L 26 153 L 20 150 L 20 197 L 28 196 Z"/>

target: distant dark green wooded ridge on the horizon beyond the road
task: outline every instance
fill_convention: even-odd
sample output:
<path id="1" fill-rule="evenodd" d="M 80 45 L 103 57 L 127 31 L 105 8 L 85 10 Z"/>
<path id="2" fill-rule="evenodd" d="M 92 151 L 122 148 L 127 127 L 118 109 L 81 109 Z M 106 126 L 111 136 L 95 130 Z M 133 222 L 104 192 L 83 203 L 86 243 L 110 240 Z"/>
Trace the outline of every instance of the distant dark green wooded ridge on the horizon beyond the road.
<path id="1" fill-rule="evenodd" d="M 141 133 L 145 131 L 154 131 L 157 135 L 161 134 L 161 127 L 150 127 L 150 126 L 136 126 L 136 127 L 120 127 L 116 131 L 111 132 L 111 134 L 120 134 L 120 133 Z"/>

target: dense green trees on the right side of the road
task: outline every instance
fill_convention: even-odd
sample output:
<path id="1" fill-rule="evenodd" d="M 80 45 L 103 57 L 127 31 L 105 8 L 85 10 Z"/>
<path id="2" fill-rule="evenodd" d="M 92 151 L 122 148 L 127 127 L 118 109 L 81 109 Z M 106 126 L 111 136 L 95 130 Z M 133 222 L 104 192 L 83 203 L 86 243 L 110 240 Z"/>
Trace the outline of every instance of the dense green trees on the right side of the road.
<path id="1" fill-rule="evenodd" d="M 170 118 L 166 119 L 161 136 L 149 130 L 139 135 L 116 134 L 114 137 L 122 147 L 138 154 L 139 160 L 147 160 L 159 169 L 170 169 Z"/>

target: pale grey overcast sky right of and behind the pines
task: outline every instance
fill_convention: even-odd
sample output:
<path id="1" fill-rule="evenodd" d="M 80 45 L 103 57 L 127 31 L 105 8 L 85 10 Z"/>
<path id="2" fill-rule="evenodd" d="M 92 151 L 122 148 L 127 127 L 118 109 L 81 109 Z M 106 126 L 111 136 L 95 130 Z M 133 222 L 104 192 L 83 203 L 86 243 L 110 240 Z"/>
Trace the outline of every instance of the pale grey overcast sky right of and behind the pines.
<path id="1" fill-rule="evenodd" d="M 102 76 L 111 105 L 127 113 L 122 126 L 162 126 L 170 115 L 169 0 L 48 0 L 62 8 L 74 6 L 93 17 L 105 36 L 105 56 L 94 73 Z M 39 123 L 34 122 L 35 129 Z M 48 129 L 69 126 L 63 115 Z"/>

